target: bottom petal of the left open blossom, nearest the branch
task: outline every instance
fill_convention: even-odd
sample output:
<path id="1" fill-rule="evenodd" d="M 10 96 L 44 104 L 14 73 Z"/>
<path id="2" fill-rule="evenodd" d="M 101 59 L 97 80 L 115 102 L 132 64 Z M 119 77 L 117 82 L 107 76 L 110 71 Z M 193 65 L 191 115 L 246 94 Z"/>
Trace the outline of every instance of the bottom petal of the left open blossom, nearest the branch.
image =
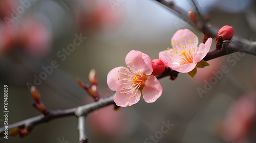
<path id="1" fill-rule="evenodd" d="M 122 91 L 124 90 L 121 90 L 120 92 Z M 140 95 L 141 95 L 140 90 L 138 90 L 137 92 L 136 90 L 133 90 L 129 94 L 123 94 L 118 92 L 119 91 L 116 91 L 116 94 L 113 98 L 117 106 L 121 106 L 121 107 L 132 106 L 133 104 L 136 104 L 140 100 Z"/>

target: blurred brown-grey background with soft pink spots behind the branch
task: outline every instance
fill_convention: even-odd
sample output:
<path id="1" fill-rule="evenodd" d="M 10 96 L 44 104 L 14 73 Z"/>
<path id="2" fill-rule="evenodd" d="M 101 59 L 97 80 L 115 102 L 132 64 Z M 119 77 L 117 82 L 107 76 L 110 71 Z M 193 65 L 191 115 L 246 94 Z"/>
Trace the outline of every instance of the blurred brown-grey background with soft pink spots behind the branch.
<path id="1" fill-rule="evenodd" d="M 195 11 L 190 1 L 172 2 Z M 229 25 L 235 36 L 256 40 L 255 1 L 195 2 L 212 27 Z M 100 97 L 109 97 L 114 92 L 106 76 L 112 68 L 125 65 L 131 50 L 153 60 L 171 46 L 170 38 L 179 29 L 195 32 L 199 42 L 203 37 L 151 0 L 2 0 L 0 19 L 0 87 L 3 93 L 8 85 L 9 124 L 39 114 L 30 104 L 31 85 L 38 88 L 49 109 L 77 107 L 93 102 L 76 82 L 79 77 L 89 83 L 91 68 L 98 70 Z M 179 74 L 176 81 L 161 79 L 163 94 L 155 103 L 141 100 L 118 111 L 113 106 L 96 110 L 88 115 L 89 141 L 255 142 L 255 59 L 243 54 L 214 59 L 198 70 L 194 80 L 187 74 Z M 228 73 L 218 78 L 214 73 L 221 73 L 223 65 Z M 3 123 L 2 116 L 1 127 Z M 174 126 L 159 137 L 164 123 Z M 147 139 L 151 135 L 156 140 Z M 77 118 L 39 125 L 23 139 L 0 138 L 0 142 L 26 143 L 63 140 L 78 142 Z"/>

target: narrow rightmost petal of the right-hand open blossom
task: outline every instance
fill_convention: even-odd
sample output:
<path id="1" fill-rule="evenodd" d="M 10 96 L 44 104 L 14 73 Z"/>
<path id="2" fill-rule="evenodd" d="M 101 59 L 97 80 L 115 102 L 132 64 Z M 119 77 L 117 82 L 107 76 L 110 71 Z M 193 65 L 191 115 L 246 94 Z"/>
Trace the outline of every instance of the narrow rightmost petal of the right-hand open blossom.
<path id="1" fill-rule="evenodd" d="M 206 56 L 206 54 L 210 50 L 211 42 L 212 42 L 212 38 L 208 38 L 205 44 L 204 43 L 199 44 L 197 55 L 193 59 L 194 63 L 200 62 Z"/>

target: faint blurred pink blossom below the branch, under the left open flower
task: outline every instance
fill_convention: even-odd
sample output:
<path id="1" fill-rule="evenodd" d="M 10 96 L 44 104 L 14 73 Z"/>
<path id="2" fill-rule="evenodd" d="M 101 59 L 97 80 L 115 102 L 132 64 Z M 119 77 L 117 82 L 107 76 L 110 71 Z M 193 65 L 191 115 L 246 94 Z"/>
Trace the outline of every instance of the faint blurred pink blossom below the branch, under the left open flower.
<path id="1" fill-rule="evenodd" d="M 131 111 L 114 111 L 113 106 L 101 108 L 88 116 L 90 131 L 105 139 L 127 138 L 136 128 L 136 118 Z"/>

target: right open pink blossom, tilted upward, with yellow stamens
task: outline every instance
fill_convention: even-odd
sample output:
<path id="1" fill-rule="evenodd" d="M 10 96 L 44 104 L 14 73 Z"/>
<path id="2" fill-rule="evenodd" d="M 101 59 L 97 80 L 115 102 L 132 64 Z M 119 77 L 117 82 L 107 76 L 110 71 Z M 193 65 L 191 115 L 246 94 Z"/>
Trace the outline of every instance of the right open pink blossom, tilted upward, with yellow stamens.
<path id="1" fill-rule="evenodd" d="M 159 59 L 165 66 L 180 73 L 193 70 L 210 50 L 211 38 L 198 46 L 198 37 L 188 29 L 178 30 L 171 39 L 172 49 L 159 53 Z"/>

